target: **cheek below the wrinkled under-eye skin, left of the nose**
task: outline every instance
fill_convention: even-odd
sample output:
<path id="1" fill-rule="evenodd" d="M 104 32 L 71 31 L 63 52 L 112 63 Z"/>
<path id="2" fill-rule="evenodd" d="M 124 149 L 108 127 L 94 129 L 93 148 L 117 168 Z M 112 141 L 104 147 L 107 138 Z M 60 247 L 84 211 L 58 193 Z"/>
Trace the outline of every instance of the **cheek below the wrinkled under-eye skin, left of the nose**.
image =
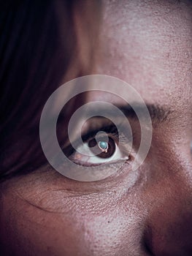
<path id="1" fill-rule="evenodd" d="M 0 214 L 4 255 L 123 255 L 127 248 L 139 250 L 134 245 L 142 239 L 139 214 L 125 202 L 111 211 L 101 206 L 91 212 L 91 207 L 94 200 L 84 208 L 74 206 L 74 211 L 67 205 L 62 213 L 44 211 L 8 193 Z"/>

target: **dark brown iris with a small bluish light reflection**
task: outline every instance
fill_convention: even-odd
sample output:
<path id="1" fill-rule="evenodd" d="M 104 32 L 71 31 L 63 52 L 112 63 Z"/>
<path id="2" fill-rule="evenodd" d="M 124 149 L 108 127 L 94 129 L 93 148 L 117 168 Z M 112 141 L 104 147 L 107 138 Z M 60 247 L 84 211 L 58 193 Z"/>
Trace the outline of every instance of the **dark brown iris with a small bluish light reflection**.
<path id="1" fill-rule="evenodd" d="M 95 138 L 89 140 L 88 146 L 90 147 L 93 154 L 96 157 L 100 158 L 110 158 L 115 153 L 116 145 L 115 141 L 112 138 L 100 138 L 99 141 L 96 141 Z M 101 152 L 98 154 L 98 152 Z"/>

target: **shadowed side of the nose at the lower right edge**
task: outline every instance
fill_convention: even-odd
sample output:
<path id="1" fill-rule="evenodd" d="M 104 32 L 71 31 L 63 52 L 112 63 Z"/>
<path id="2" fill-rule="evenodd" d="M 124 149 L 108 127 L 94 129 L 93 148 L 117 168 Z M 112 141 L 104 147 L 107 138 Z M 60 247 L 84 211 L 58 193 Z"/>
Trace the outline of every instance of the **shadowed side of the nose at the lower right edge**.
<path id="1" fill-rule="evenodd" d="M 154 255 L 192 255 L 192 168 L 175 164 L 153 193 L 148 241 Z"/>

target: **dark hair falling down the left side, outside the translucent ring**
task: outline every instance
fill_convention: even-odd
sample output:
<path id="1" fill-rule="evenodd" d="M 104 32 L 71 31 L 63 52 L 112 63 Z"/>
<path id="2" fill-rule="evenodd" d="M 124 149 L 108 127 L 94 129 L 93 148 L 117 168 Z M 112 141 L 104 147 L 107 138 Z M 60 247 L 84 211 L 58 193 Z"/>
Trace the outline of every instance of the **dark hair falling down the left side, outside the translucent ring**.
<path id="1" fill-rule="evenodd" d="M 39 118 L 61 83 L 93 70 L 98 0 L 7 0 L 0 10 L 0 177 L 45 157 Z"/>

